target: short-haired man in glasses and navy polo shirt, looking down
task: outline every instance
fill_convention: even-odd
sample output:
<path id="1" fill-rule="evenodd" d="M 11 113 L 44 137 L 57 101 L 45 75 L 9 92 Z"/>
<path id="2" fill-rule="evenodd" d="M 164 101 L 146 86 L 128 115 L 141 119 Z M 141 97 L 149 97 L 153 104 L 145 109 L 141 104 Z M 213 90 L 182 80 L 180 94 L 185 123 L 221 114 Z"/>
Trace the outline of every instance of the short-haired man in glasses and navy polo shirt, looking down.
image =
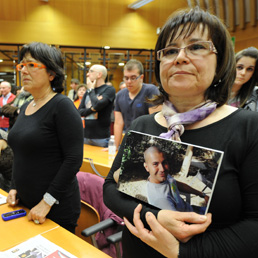
<path id="1" fill-rule="evenodd" d="M 123 130 L 127 130 L 135 118 L 160 110 L 146 102 L 146 98 L 158 95 L 159 90 L 153 84 L 143 83 L 143 78 L 142 63 L 136 59 L 129 60 L 124 66 L 123 80 L 126 89 L 117 93 L 115 101 L 114 135 L 117 149 L 122 139 Z"/>

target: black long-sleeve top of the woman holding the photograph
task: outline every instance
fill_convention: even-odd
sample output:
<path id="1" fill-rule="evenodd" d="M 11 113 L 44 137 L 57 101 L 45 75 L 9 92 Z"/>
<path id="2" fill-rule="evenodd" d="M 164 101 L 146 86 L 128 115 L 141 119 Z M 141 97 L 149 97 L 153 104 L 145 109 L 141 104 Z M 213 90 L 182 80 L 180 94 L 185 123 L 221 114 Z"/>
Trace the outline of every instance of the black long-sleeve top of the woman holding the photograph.
<path id="1" fill-rule="evenodd" d="M 212 223 L 203 234 L 180 243 L 180 258 L 255 258 L 258 253 L 258 113 L 237 110 L 208 126 L 186 130 L 182 142 L 224 151 L 224 157 L 212 196 L 209 212 Z M 166 132 L 154 120 L 154 114 L 136 119 L 132 130 L 159 135 Z M 124 139 L 125 141 L 125 139 Z M 123 141 L 123 142 L 124 142 Z M 116 188 L 113 173 L 121 165 L 123 144 L 104 184 L 104 202 L 119 216 L 133 222 L 138 200 Z M 143 204 L 145 214 L 156 216 L 158 209 Z M 127 229 L 123 236 L 124 258 L 163 257 L 145 245 Z"/>

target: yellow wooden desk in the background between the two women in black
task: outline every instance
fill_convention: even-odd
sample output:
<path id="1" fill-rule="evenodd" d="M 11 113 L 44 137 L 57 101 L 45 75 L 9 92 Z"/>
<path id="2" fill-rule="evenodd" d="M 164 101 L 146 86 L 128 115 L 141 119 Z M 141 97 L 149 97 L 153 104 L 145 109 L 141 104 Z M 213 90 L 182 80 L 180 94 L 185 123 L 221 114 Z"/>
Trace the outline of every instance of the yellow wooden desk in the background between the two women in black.
<path id="1" fill-rule="evenodd" d="M 90 165 L 90 161 L 85 159 L 90 158 L 99 174 L 106 177 L 114 160 L 109 158 L 108 151 L 103 150 L 102 147 L 84 144 L 83 164 L 80 171 L 96 174 Z"/>

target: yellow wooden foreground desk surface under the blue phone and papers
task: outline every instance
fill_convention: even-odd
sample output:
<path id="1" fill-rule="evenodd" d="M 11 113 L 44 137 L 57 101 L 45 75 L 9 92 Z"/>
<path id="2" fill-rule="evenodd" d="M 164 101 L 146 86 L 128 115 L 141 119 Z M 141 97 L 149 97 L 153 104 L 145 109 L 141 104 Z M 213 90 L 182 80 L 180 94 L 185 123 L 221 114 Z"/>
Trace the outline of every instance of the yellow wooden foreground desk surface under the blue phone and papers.
<path id="1" fill-rule="evenodd" d="M 6 195 L 1 189 L 0 193 Z M 2 204 L 0 205 L 0 213 L 20 208 L 24 207 L 16 206 L 12 208 L 8 204 Z M 25 208 L 25 210 L 28 212 L 28 209 Z M 78 258 L 110 258 L 107 254 L 60 227 L 55 222 L 47 219 L 45 223 L 37 225 L 32 221 L 28 221 L 27 216 L 10 221 L 0 219 L 0 251 L 8 250 L 38 234 Z"/>

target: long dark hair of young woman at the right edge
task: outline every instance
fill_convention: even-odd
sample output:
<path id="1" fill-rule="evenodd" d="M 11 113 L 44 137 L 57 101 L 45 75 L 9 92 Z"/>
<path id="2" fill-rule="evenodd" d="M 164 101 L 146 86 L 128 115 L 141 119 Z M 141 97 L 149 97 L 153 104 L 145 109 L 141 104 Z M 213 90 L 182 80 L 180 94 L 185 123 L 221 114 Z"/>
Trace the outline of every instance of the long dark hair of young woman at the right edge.
<path id="1" fill-rule="evenodd" d="M 249 99 L 258 81 L 258 49 L 255 47 L 248 47 L 239 51 L 236 53 L 236 63 L 244 56 L 255 59 L 255 68 L 250 80 L 242 85 L 236 95 L 236 98 L 240 100 L 240 107 L 243 107 L 245 102 Z"/>

